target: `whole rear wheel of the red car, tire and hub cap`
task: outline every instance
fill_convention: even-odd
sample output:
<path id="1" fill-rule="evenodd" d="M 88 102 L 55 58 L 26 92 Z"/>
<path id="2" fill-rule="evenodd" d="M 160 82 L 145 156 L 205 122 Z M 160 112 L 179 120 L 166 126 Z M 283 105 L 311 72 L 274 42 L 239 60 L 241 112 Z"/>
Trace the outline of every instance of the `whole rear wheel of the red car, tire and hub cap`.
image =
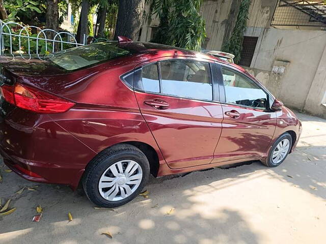
<path id="1" fill-rule="evenodd" d="M 128 175 L 134 168 L 134 172 Z M 136 179 L 131 179 L 131 176 Z M 83 188 L 95 205 L 117 207 L 138 196 L 148 177 L 149 163 L 143 152 L 129 144 L 118 144 L 105 149 L 89 163 L 83 176 Z M 108 194 L 110 191 L 113 192 Z M 105 194 L 108 194 L 106 198 Z M 116 196 L 111 199 L 114 194 Z"/>

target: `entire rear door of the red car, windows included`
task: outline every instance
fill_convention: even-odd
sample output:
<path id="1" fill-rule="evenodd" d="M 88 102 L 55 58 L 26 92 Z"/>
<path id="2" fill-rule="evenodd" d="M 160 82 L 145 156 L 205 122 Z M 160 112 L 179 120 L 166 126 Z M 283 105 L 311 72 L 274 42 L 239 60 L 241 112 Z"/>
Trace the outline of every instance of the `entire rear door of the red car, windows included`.
<path id="1" fill-rule="evenodd" d="M 155 60 L 134 75 L 135 96 L 169 167 L 209 164 L 222 131 L 222 107 L 211 64 L 191 58 Z"/>

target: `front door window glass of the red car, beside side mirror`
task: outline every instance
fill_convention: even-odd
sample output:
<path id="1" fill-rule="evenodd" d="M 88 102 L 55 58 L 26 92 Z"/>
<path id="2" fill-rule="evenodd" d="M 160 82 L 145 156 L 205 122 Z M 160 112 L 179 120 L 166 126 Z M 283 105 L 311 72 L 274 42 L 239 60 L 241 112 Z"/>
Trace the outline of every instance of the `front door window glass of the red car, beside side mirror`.
<path id="1" fill-rule="evenodd" d="M 222 67 L 222 74 L 227 103 L 267 108 L 267 94 L 254 81 L 226 67 Z"/>

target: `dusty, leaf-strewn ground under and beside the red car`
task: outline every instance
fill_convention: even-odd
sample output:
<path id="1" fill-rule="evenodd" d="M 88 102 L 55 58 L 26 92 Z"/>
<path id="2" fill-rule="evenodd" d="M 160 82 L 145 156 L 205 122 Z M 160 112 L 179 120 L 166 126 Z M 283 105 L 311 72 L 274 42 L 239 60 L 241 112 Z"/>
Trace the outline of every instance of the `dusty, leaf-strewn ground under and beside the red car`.
<path id="1" fill-rule="evenodd" d="M 11 198 L 17 210 L 0 216 L 0 243 L 326 243 L 326 120 L 298 116 L 301 140 L 281 166 L 253 162 L 151 178 L 149 198 L 116 211 L 94 209 L 81 190 L 35 184 L 3 167 L 2 205 Z M 44 210 L 36 223 L 38 204 Z"/>

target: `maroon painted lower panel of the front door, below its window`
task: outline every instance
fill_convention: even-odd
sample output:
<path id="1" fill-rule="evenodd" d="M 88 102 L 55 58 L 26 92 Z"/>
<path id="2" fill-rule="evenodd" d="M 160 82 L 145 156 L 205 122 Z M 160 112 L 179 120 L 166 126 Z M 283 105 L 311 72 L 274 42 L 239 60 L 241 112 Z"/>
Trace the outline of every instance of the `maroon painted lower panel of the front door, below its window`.
<path id="1" fill-rule="evenodd" d="M 224 115 L 223 130 L 212 163 L 265 157 L 275 132 L 276 113 L 230 104 L 222 104 L 222 108 L 224 113 L 235 110 L 240 116 Z"/>

